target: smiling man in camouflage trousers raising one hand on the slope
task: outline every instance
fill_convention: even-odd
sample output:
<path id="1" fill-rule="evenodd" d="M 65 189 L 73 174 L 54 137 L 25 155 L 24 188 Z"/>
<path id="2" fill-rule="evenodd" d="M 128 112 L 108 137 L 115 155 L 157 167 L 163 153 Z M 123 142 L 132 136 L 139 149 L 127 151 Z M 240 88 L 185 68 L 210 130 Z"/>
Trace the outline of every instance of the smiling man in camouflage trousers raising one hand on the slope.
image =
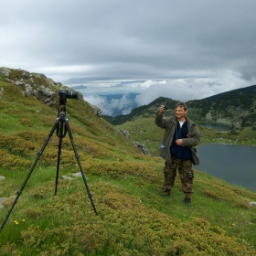
<path id="1" fill-rule="evenodd" d="M 181 179 L 182 190 L 185 195 L 185 204 L 191 206 L 191 194 L 193 193 L 194 165 L 199 165 L 197 154 L 192 149 L 200 141 L 200 133 L 196 123 L 186 116 L 187 105 L 184 102 L 176 104 L 176 117 L 163 118 L 165 106 L 161 105 L 155 114 L 155 124 L 165 129 L 164 141 L 161 145 L 161 156 L 165 159 L 163 186 L 164 196 L 170 196 L 175 185 L 176 169 Z"/>

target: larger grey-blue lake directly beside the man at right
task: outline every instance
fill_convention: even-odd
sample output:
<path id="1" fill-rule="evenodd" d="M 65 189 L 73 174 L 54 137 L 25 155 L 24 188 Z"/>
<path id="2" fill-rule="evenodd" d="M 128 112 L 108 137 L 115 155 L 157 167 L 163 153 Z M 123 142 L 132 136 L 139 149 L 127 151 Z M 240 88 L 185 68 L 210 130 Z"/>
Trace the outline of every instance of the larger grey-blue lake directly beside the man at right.
<path id="1" fill-rule="evenodd" d="M 202 144 L 197 147 L 197 154 L 200 165 L 195 169 L 256 191 L 256 147 Z"/>

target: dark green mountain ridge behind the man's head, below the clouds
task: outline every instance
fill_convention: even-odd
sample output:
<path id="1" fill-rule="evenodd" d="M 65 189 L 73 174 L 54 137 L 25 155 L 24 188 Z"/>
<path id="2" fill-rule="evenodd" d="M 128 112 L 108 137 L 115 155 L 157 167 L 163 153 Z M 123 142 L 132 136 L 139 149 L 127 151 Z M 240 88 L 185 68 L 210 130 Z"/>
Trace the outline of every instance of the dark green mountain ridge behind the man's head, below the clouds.
<path id="1" fill-rule="evenodd" d="M 135 108 L 127 115 L 102 117 L 109 123 L 119 125 L 141 116 L 152 117 L 161 104 L 174 113 L 177 101 L 159 97 L 151 103 Z M 194 122 L 222 124 L 233 127 L 256 126 L 256 85 L 222 92 L 202 100 L 187 101 L 188 113 Z"/>

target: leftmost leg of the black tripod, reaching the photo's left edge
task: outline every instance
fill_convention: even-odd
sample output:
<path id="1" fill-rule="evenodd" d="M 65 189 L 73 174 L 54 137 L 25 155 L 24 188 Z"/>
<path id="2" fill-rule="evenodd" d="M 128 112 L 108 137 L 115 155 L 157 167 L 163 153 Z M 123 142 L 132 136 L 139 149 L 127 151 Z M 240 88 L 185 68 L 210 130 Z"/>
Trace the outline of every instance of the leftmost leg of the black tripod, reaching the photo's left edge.
<path id="1" fill-rule="evenodd" d="M 46 146 L 47 146 L 47 144 L 48 144 L 48 141 L 49 141 L 50 137 L 52 136 L 52 134 L 54 133 L 55 129 L 57 128 L 57 125 L 59 124 L 59 121 L 60 121 L 60 118 L 57 118 L 56 123 L 53 125 L 51 131 L 48 133 L 48 138 L 46 139 L 45 144 L 43 144 L 41 150 L 37 153 L 37 158 L 36 158 L 34 164 L 32 165 L 32 167 L 30 168 L 30 171 L 29 171 L 29 173 L 28 173 L 28 175 L 27 175 L 27 177 L 26 177 L 24 183 L 22 184 L 22 186 L 20 187 L 20 189 L 16 192 L 16 198 L 15 198 L 15 200 L 14 200 L 14 202 L 13 202 L 11 208 L 9 209 L 9 211 L 8 211 L 8 213 L 7 213 L 7 215 L 6 215 L 4 222 L 2 223 L 2 225 L 1 225 L 1 227 L 0 227 L 0 233 L 1 233 L 2 229 L 4 229 L 5 223 L 6 223 L 7 219 L 9 218 L 9 216 L 10 216 L 10 214 L 11 214 L 13 208 L 15 207 L 17 199 L 20 197 L 20 195 L 21 195 L 21 193 L 22 193 L 24 187 L 26 186 L 29 177 L 31 176 L 31 174 L 32 174 L 32 172 L 33 172 L 33 170 L 34 170 L 34 168 L 35 168 L 36 165 L 37 165 L 37 161 L 39 160 L 40 156 L 43 154 L 43 152 L 44 152 L 44 150 L 45 150 L 45 148 L 46 148 Z"/>

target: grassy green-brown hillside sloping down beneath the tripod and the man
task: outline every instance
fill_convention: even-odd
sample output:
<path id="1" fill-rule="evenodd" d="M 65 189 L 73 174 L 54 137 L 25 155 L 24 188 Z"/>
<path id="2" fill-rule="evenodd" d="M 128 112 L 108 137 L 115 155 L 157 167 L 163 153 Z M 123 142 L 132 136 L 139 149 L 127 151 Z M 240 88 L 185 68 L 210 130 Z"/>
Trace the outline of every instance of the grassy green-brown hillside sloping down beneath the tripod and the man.
<path id="1" fill-rule="evenodd" d="M 0 89 L 2 222 L 58 108 L 5 77 Z M 85 101 L 69 99 L 67 115 L 98 215 L 82 179 L 72 176 L 79 168 L 68 137 L 54 196 L 59 138 L 53 134 L 0 233 L 0 255 L 256 255 L 256 208 L 249 208 L 256 193 L 196 171 L 187 208 L 179 179 L 172 197 L 162 197 L 162 159 L 143 155 Z"/>

